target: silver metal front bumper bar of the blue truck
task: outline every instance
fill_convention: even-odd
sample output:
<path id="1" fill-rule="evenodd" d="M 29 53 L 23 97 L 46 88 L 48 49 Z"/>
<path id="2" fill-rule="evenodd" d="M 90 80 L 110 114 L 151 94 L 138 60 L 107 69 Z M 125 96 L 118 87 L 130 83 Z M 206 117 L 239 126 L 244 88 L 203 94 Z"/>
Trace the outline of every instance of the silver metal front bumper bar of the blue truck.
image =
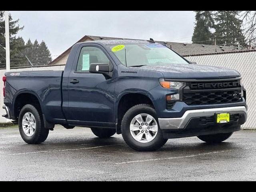
<path id="1" fill-rule="evenodd" d="M 158 118 L 159 126 L 162 130 L 182 130 L 186 128 L 188 122 L 193 118 L 211 117 L 216 113 L 229 112 L 232 114 L 242 115 L 244 122 L 247 118 L 247 110 L 245 106 L 226 107 L 226 108 L 210 108 L 210 109 L 198 109 L 187 110 L 180 118 Z M 243 124 L 242 122 L 241 124 Z"/>

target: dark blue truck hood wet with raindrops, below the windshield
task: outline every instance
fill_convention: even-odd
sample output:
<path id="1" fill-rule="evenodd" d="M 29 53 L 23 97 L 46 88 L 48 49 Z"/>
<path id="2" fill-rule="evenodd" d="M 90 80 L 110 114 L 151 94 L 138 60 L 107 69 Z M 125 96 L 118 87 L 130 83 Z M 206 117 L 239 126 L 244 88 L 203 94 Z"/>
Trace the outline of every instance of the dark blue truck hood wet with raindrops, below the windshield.
<path id="1" fill-rule="evenodd" d="M 164 75 L 164 78 L 177 79 L 230 78 L 240 76 L 233 69 L 197 64 L 145 65 L 139 67 L 139 69 L 158 71 Z"/>

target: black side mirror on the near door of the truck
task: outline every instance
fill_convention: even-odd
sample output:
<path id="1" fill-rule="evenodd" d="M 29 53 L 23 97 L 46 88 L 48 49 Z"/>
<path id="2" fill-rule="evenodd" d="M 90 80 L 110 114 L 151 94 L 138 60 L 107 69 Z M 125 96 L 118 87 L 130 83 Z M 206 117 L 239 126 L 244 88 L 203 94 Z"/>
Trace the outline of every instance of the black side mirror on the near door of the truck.
<path id="1" fill-rule="evenodd" d="M 106 78 L 112 77 L 113 65 L 111 63 L 91 63 L 89 67 L 90 73 L 100 73 Z"/>

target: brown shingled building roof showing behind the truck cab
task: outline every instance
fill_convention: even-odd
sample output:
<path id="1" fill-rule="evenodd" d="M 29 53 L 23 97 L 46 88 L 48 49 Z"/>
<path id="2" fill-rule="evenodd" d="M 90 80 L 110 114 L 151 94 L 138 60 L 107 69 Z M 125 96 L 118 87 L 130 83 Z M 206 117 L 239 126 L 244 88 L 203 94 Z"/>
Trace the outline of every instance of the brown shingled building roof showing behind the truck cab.
<path id="1" fill-rule="evenodd" d="M 97 41 L 97 40 L 141 40 L 141 39 L 129 39 L 129 38 L 116 38 L 116 37 L 103 37 L 103 36 L 91 36 L 85 35 L 78 42 L 85 41 Z M 142 40 L 145 41 L 145 40 Z M 111 41 L 109 41 L 111 42 Z M 158 43 L 166 43 L 166 46 L 172 48 L 178 54 L 182 56 L 193 56 L 193 55 L 204 55 L 204 54 L 220 54 L 220 53 L 230 53 L 237 52 L 237 48 L 230 46 L 215 46 L 215 45 L 203 45 L 203 44 L 186 44 L 186 43 L 178 43 L 178 42 L 164 42 L 164 41 L 156 41 Z M 75 43 L 75 44 L 76 44 Z M 111 44 L 111 43 L 110 43 Z M 73 45 L 72 45 L 73 46 Z M 68 48 L 65 52 L 60 54 L 57 58 L 55 58 L 49 64 L 55 64 L 58 60 L 60 60 L 63 56 L 69 54 L 71 48 Z"/>

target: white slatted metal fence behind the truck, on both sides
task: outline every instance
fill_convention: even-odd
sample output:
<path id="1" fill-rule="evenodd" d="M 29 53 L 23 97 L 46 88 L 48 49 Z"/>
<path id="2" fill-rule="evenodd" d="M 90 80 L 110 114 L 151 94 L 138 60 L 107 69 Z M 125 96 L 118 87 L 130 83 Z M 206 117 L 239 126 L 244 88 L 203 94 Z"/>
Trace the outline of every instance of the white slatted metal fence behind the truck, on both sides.
<path id="1" fill-rule="evenodd" d="M 186 56 L 186 59 L 202 65 L 220 66 L 237 70 L 242 76 L 242 82 L 247 90 L 248 119 L 242 126 L 243 128 L 256 128 L 256 51 L 253 52 L 236 52 L 228 54 L 212 54 L 203 56 Z M 11 71 L 24 70 L 64 70 L 62 66 L 44 66 L 11 69 Z M 0 70 L 0 77 L 4 76 L 5 70 Z M 0 93 L 0 104 L 3 104 L 2 89 Z M 0 111 L 0 122 L 8 122 L 2 117 L 4 110 Z"/>

